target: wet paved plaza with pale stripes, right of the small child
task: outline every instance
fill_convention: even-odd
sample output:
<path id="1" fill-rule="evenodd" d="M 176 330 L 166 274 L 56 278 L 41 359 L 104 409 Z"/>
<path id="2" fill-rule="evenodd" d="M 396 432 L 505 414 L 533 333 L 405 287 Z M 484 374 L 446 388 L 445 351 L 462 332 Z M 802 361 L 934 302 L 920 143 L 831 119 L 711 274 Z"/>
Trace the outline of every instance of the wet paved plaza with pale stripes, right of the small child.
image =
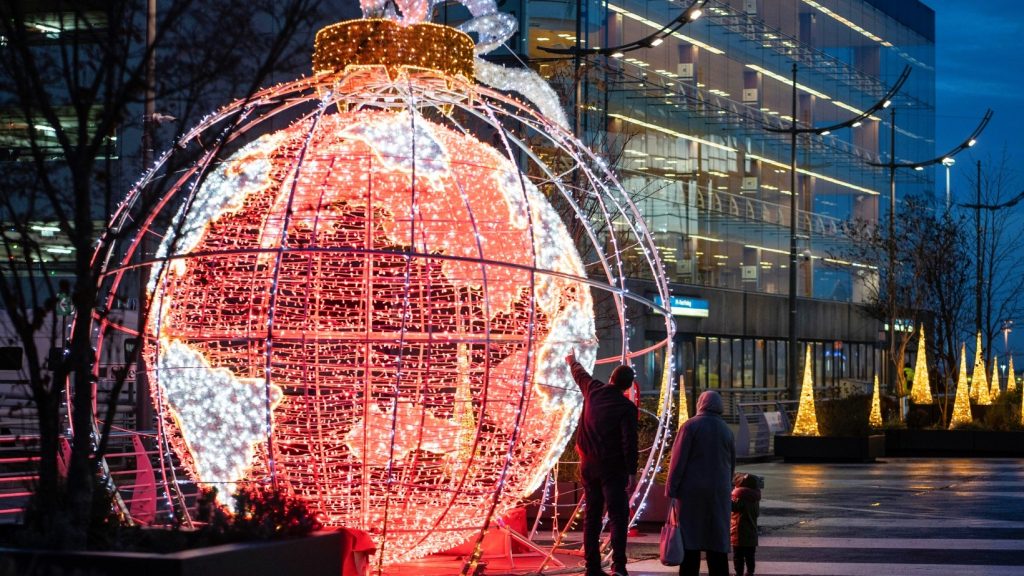
<path id="1" fill-rule="evenodd" d="M 776 461 L 737 470 L 765 478 L 759 575 L 1024 575 L 1022 460 Z M 633 576 L 677 573 L 658 563 L 656 534 L 630 546 Z"/>

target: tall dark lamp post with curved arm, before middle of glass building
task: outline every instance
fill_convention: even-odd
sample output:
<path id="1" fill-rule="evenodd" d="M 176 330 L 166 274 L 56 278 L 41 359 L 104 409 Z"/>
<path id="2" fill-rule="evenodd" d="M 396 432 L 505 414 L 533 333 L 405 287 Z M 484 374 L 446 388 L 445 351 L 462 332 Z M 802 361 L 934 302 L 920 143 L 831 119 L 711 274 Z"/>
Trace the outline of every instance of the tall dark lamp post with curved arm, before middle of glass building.
<path id="1" fill-rule="evenodd" d="M 790 398 L 797 398 L 797 395 L 799 394 L 797 365 L 800 363 L 800 351 L 797 347 L 797 224 L 799 221 L 797 217 L 797 200 L 799 196 L 797 193 L 797 136 L 800 134 L 825 135 L 841 128 L 860 126 L 860 124 L 867 118 L 870 118 L 872 114 L 879 112 L 880 110 L 889 108 L 889 106 L 892 105 L 892 98 L 903 86 L 903 83 L 906 82 L 909 75 L 910 67 L 904 68 L 903 73 L 900 74 L 896 83 L 893 84 L 892 88 L 889 89 L 882 99 L 876 102 L 871 108 L 865 110 L 857 116 L 854 116 L 853 118 L 830 126 L 821 126 L 817 128 L 809 126 L 801 127 L 797 116 L 797 63 L 793 63 L 793 98 L 791 102 L 790 126 L 784 128 L 765 126 L 765 129 L 769 132 L 790 134 L 790 324 L 787 327 L 788 341 L 786 345 L 785 361 L 785 381 L 790 390 Z"/>

